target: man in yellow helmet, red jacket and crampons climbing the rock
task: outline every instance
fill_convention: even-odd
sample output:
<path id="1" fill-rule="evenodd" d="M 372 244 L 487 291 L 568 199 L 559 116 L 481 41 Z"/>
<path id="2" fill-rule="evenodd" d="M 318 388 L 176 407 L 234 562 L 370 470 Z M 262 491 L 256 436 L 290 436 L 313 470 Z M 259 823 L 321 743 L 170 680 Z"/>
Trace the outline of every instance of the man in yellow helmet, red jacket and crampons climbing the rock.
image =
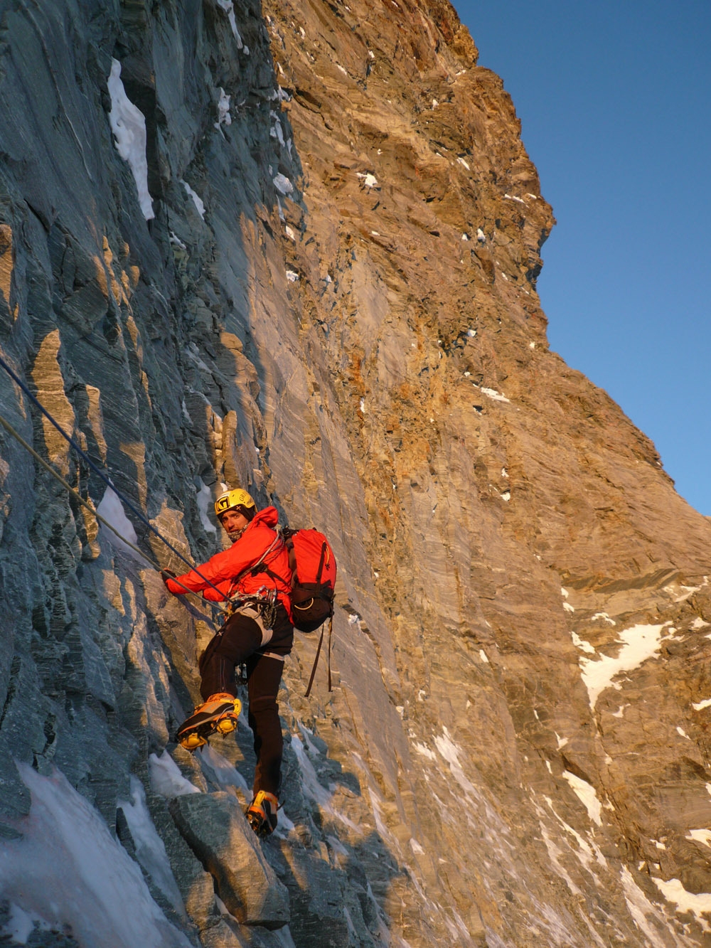
<path id="1" fill-rule="evenodd" d="M 215 501 L 215 515 L 231 547 L 201 564 L 202 575 L 194 570 L 181 576 L 166 570 L 162 574 L 173 595 L 185 593 L 182 587 L 187 587 L 218 601 L 219 590 L 229 602 L 228 620 L 200 658 L 203 703 L 180 725 L 177 740 L 194 751 L 215 731 L 228 734 L 237 727 L 241 704 L 235 667 L 246 665 L 248 721 L 257 755 L 254 798 L 246 817 L 252 829 L 265 836 L 277 825 L 283 753 L 277 693 L 284 658 L 294 641 L 291 568 L 283 538 L 274 530 L 279 517 L 275 507 L 258 512 L 246 490 L 227 490 Z"/>

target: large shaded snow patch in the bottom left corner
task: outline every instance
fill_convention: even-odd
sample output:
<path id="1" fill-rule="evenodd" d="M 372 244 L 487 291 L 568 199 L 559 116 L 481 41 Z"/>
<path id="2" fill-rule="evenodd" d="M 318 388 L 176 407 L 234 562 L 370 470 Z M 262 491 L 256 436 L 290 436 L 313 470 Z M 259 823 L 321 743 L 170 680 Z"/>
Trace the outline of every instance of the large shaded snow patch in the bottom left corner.
<path id="1" fill-rule="evenodd" d="M 191 948 L 151 898 L 137 863 L 64 775 L 17 768 L 31 808 L 16 824 L 22 838 L 0 848 L 0 891 L 15 926 L 27 930 L 26 916 L 41 927 L 68 926 L 91 948 Z"/>

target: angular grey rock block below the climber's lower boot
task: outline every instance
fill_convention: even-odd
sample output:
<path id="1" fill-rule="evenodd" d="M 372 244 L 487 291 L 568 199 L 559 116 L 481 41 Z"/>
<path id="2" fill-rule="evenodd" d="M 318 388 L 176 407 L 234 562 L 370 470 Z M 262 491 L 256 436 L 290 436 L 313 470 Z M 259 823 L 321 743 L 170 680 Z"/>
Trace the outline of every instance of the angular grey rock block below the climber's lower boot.
<path id="1" fill-rule="evenodd" d="M 238 921 L 264 928 L 288 923 L 288 892 L 264 859 L 230 793 L 190 793 L 176 797 L 169 806 L 178 830 Z"/>

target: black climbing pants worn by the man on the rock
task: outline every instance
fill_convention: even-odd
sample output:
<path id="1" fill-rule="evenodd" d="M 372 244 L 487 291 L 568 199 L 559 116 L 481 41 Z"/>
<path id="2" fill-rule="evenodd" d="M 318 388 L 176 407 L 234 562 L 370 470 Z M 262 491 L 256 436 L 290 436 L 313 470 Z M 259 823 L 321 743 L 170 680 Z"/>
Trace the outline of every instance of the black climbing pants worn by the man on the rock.
<path id="1" fill-rule="evenodd" d="M 246 664 L 247 720 L 254 734 L 254 753 L 257 755 L 254 793 L 259 790 L 275 795 L 279 793 L 283 738 L 277 695 L 282 680 L 283 656 L 288 655 L 293 643 L 294 629 L 286 610 L 280 605 L 272 638 L 264 647 L 262 629 L 254 619 L 238 612 L 228 619 L 200 658 L 203 701 L 220 691 L 236 695 L 234 670 L 237 665 Z M 264 655 L 263 651 L 270 654 Z"/>

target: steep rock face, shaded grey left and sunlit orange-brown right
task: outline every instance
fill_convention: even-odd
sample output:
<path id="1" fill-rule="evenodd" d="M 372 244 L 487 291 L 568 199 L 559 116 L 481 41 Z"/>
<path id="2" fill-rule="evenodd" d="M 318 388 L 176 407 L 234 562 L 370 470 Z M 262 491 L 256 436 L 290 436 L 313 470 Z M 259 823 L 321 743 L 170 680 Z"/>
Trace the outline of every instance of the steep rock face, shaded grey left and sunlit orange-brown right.
<path id="1" fill-rule="evenodd" d="M 229 483 L 341 577 L 336 687 L 303 697 L 298 636 L 255 848 L 246 725 L 172 741 L 210 611 L 4 430 L 0 847 L 33 845 L 30 764 L 134 857 L 167 945 L 708 943 L 711 527 L 548 350 L 552 212 L 454 10 L 0 17 L 0 355 L 95 466 L 3 371 L 0 414 L 161 566 L 219 548 Z M 77 943 L 90 880 L 23 904 L 16 865 L 8 943 Z"/>

